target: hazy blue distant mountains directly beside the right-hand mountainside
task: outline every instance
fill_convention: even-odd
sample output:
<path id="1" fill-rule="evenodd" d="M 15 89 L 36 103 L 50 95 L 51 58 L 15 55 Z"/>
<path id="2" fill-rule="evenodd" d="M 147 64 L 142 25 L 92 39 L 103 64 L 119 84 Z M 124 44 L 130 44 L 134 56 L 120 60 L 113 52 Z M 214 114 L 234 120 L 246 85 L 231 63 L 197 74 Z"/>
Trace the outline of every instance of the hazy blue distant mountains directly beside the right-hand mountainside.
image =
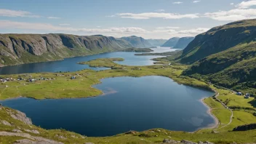
<path id="1" fill-rule="evenodd" d="M 194 37 L 173 37 L 166 41 L 161 47 L 173 47 L 175 49 L 185 49 L 193 41 Z"/>

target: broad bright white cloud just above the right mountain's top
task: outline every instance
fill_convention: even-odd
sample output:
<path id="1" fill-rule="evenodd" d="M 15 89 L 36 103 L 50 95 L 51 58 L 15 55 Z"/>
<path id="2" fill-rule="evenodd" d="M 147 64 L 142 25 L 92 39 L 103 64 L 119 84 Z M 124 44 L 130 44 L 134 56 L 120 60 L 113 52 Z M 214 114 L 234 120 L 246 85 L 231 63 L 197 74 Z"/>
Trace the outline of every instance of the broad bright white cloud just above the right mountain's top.
<path id="1" fill-rule="evenodd" d="M 207 12 L 204 17 L 210 17 L 213 20 L 244 20 L 256 18 L 255 9 L 231 9 L 229 11 Z"/>

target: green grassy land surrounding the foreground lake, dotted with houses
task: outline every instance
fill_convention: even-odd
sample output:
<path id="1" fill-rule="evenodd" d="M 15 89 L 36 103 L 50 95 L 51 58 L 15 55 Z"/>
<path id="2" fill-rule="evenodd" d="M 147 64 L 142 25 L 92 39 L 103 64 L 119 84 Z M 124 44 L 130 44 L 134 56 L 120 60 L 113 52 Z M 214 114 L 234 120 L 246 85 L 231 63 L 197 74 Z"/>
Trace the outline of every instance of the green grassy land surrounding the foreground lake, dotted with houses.
<path id="1" fill-rule="evenodd" d="M 2 83 L 0 84 L 0 99 L 5 100 L 7 98 L 19 96 L 33 97 L 35 99 L 92 97 L 102 94 L 99 89 L 92 87 L 93 84 L 100 83 L 100 79 L 118 76 L 166 76 L 175 80 L 179 84 L 215 89 L 220 93 L 218 98 L 223 102 L 227 102 L 228 106 L 253 108 L 249 103 L 253 100 L 252 98 L 244 99 L 243 97 L 237 96 L 228 90 L 213 87 L 212 85 L 196 79 L 191 79 L 187 76 L 181 76 L 180 74 L 187 68 L 186 65 L 128 66 L 119 65 L 113 62 L 118 60 L 123 59 L 97 59 L 80 63 L 88 64 L 92 67 L 111 68 L 105 71 L 92 71 L 87 69 L 72 73 L 28 73 L 4 75 L 1 76 L 4 79 L 8 77 L 12 79 L 36 79 L 36 81 L 29 82 L 27 80 L 15 80 Z M 71 79 L 73 76 L 76 76 L 76 79 Z M 233 111 L 232 122 L 227 125 L 231 117 L 231 111 L 226 109 L 213 97 L 204 99 L 204 103 L 209 105 L 212 114 L 217 117 L 220 125 L 215 129 L 202 129 L 194 133 L 171 132 L 166 129 L 150 129 L 145 132 L 119 134 L 112 137 L 85 137 L 73 132 L 67 132 L 64 129 L 46 130 L 36 126 L 29 127 L 20 121 L 12 119 L 12 117 L 3 110 L 0 110 L 0 119 L 10 121 L 14 125 L 12 127 L 8 127 L 0 123 L 0 131 L 11 132 L 12 129 L 17 129 L 17 127 L 20 127 L 21 129 L 36 129 L 40 132 L 40 137 L 46 137 L 63 143 L 160 143 L 165 138 L 172 140 L 185 139 L 193 142 L 210 141 L 213 143 L 232 143 L 235 141 L 236 143 L 256 143 L 256 130 L 246 132 L 229 132 L 240 125 L 256 123 L 256 117 L 253 116 L 252 111 L 244 111 L 244 109 L 237 109 L 236 111 Z M 212 130 L 217 133 L 212 133 Z M 56 137 L 56 135 L 61 135 L 66 138 L 64 140 Z M 0 136 L 0 143 L 12 142 L 22 138 L 23 137 Z"/>

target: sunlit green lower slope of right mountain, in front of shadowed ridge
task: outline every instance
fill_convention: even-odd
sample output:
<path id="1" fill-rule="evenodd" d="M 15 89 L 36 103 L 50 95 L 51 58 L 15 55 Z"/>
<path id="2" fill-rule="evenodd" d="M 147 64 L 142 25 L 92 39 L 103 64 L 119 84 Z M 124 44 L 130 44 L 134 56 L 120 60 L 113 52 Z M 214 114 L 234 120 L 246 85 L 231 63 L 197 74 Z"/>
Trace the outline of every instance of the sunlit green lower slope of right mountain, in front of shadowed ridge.
<path id="1" fill-rule="evenodd" d="M 183 74 L 256 95 L 256 41 L 205 57 Z"/>

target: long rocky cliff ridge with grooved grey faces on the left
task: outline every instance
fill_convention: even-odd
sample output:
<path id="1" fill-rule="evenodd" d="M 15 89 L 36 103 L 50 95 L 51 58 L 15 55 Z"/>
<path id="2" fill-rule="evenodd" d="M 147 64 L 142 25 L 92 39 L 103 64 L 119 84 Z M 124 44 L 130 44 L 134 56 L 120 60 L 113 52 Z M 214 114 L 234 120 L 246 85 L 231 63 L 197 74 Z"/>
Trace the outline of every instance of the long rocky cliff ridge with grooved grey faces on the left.
<path id="1" fill-rule="evenodd" d="M 0 34 L 0 66 L 62 60 L 129 47 L 133 46 L 124 39 L 101 35 Z"/>

